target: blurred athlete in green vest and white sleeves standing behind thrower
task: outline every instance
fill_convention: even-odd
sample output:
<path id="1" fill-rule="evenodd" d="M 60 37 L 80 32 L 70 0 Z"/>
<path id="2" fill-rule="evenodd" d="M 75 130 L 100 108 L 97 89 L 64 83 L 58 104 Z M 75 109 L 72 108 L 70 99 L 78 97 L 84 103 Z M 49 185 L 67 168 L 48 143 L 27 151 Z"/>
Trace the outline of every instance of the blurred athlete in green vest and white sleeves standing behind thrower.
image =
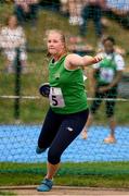
<path id="1" fill-rule="evenodd" d="M 87 131 L 92 124 L 93 115 L 96 113 L 103 99 L 106 105 L 106 117 L 109 122 L 111 134 L 104 139 L 105 143 L 115 143 L 115 127 L 116 121 L 114 118 L 115 103 L 117 98 L 118 83 L 121 79 L 125 62 L 122 57 L 115 52 L 115 39 L 113 37 L 106 37 L 103 40 L 104 52 L 103 61 L 93 65 L 92 72 L 92 86 L 94 90 L 94 100 L 90 107 L 89 120 L 82 131 L 82 138 L 87 138 Z M 112 100 L 108 100 L 112 99 Z"/>

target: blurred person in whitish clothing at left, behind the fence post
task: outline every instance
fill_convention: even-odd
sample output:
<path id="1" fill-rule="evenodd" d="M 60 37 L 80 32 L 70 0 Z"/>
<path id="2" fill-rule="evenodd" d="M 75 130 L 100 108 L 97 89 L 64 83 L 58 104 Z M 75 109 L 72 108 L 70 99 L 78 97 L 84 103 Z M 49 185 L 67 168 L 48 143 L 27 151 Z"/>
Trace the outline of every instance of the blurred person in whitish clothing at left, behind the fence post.
<path id="1" fill-rule="evenodd" d="M 20 48 L 20 60 L 22 63 L 22 71 L 26 72 L 26 37 L 22 26 L 18 26 L 15 15 L 8 19 L 7 25 L 0 30 L 0 48 L 5 57 L 5 71 L 14 73 L 14 60 L 16 58 L 16 48 Z"/>

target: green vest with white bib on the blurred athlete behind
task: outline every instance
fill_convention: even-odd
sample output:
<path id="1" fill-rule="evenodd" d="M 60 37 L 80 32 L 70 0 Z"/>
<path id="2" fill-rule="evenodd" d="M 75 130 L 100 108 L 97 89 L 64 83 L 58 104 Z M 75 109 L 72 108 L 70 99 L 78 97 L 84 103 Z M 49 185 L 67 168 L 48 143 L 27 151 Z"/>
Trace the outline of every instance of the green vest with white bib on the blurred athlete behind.
<path id="1" fill-rule="evenodd" d="M 106 57 L 99 63 L 99 73 L 96 75 L 96 81 L 99 85 L 108 85 L 114 79 L 116 75 L 117 65 L 115 63 L 115 53 L 107 59 Z"/>

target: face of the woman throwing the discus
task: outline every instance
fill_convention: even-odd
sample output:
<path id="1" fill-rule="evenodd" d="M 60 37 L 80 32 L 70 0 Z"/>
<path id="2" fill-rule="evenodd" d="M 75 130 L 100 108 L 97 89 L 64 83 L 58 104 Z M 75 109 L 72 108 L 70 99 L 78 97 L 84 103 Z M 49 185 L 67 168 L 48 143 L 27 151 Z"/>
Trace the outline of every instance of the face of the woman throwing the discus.
<path id="1" fill-rule="evenodd" d="M 64 51 L 64 42 L 61 35 L 57 33 L 49 34 L 48 36 L 48 51 L 52 56 L 60 56 Z"/>

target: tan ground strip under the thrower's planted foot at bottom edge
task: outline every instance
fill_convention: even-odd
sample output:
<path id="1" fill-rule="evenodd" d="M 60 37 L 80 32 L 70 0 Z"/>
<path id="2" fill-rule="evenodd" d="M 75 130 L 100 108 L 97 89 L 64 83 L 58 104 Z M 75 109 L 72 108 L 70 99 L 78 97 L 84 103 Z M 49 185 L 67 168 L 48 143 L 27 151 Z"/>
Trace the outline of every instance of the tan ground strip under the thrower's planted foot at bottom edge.
<path id="1" fill-rule="evenodd" d="M 109 189 L 109 188 L 85 188 L 85 187 L 68 187 L 68 186 L 54 186 L 51 192 L 48 193 L 39 193 L 36 191 L 36 186 L 18 186 L 18 187 L 3 187 L 2 191 L 11 191 L 12 193 L 16 193 L 18 196 L 22 195 L 49 195 L 49 196 L 129 196 L 129 189 Z"/>

